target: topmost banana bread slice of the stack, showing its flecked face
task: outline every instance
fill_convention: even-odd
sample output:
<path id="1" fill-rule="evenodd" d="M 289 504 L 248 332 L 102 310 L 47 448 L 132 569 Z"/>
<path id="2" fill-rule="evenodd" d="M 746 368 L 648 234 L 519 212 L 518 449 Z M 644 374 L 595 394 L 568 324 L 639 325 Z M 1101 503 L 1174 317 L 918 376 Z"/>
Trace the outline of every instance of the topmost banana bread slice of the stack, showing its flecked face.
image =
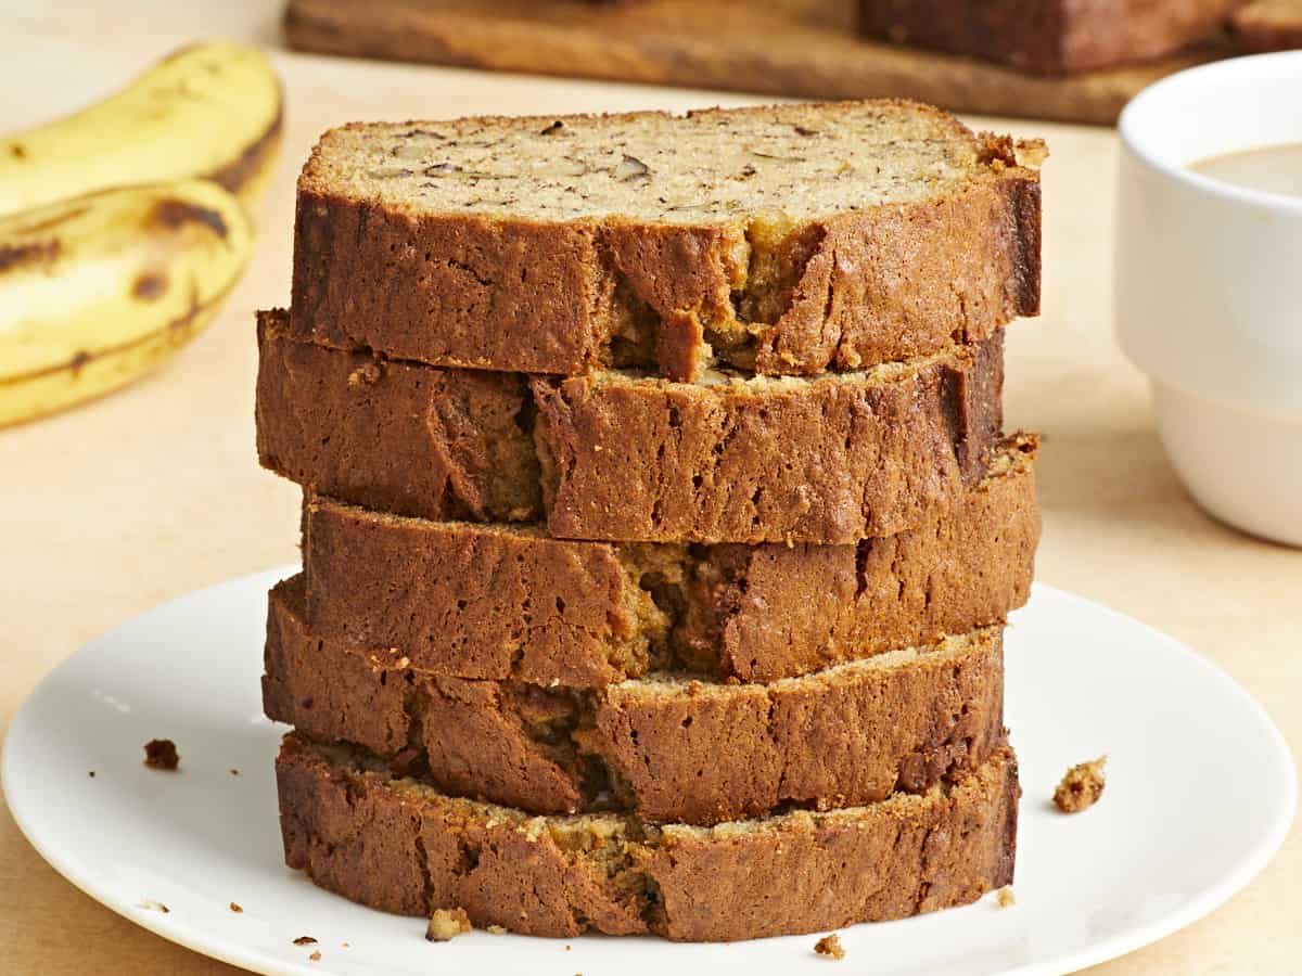
<path id="1" fill-rule="evenodd" d="M 348 125 L 298 180 L 293 327 L 555 375 L 927 355 L 1039 311 L 1042 148 L 906 102 Z"/>

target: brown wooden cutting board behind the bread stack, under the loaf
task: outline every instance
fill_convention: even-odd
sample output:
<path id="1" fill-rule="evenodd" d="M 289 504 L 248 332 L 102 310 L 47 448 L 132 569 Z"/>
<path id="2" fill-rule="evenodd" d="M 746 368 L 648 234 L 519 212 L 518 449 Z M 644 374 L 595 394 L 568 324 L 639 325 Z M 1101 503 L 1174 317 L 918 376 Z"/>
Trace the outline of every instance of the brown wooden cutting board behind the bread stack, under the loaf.
<path id="1" fill-rule="evenodd" d="M 1141 88 L 1230 53 L 1042 78 L 862 40 L 854 0 L 289 0 L 290 47 L 798 98 L 907 96 L 958 112 L 1111 125 Z"/>

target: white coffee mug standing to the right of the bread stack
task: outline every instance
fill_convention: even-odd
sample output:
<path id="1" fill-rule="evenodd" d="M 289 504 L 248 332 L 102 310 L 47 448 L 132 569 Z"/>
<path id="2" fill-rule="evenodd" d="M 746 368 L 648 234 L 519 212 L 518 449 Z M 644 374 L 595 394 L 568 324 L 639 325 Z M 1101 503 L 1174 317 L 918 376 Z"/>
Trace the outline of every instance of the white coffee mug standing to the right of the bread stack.
<path id="1" fill-rule="evenodd" d="M 1173 74 L 1120 133 L 1117 337 L 1167 453 L 1210 513 L 1302 545 L 1302 198 L 1189 169 L 1302 143 L 1302 51 Z"/>

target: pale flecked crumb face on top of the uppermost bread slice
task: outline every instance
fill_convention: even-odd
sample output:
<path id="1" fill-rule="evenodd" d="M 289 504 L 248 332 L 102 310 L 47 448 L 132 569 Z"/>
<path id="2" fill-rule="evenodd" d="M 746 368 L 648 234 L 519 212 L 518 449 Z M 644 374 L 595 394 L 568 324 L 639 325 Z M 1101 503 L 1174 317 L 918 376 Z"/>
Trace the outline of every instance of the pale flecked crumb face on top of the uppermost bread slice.
<path id="1" fill-rule="evenodd" d="M 798 221 L 926 199 L 987 172 L 987 156 L 935 109 L 797 104 L 353 125 L 323 137 L 303 185 L 409 213 Z"/>

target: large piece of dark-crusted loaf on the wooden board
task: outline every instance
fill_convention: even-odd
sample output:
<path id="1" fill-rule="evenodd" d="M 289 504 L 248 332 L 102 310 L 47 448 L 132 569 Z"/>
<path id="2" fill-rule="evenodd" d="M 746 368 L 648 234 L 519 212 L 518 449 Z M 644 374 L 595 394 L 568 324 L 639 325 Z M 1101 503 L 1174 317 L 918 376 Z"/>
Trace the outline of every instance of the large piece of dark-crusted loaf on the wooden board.
<path id="1" fill-rule="evenodd" d="M 1243 0 L 859 0 L 865 34 L 1061 74 L 1151 61 L 1217 34 Z"/>

